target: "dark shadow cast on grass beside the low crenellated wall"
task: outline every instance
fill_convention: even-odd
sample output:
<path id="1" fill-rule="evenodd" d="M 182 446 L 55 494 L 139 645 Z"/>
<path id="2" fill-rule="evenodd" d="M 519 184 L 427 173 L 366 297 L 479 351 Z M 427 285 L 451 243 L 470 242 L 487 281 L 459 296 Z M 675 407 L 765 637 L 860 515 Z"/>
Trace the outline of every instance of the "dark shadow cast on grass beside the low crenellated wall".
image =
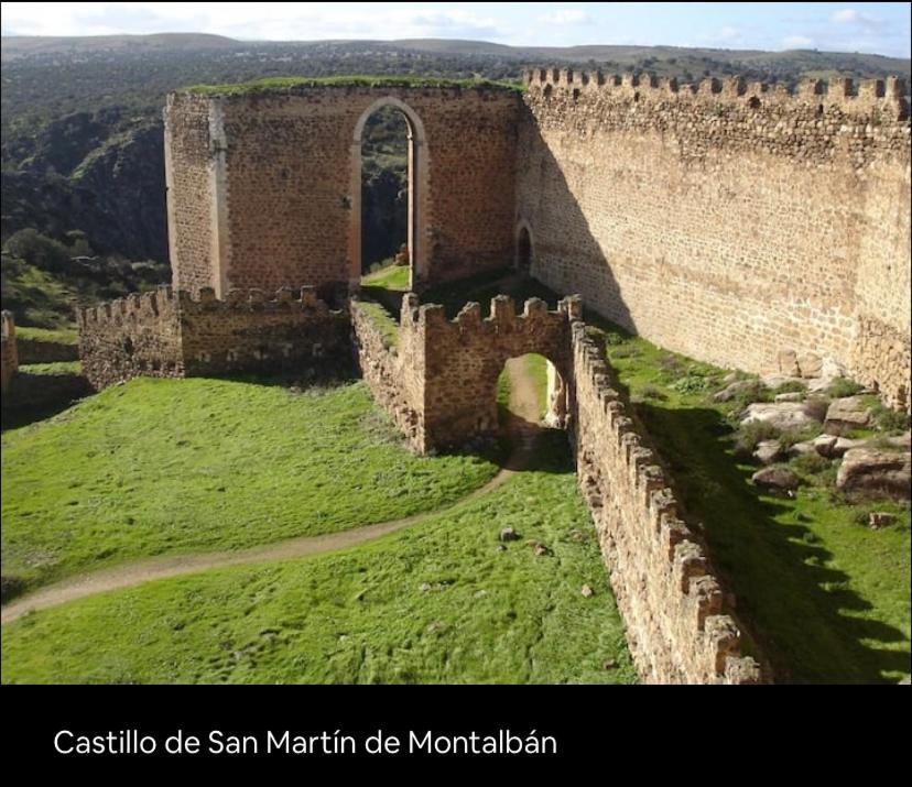
<path id="1" fill-rule="evenodd" d="M 636 404 L 674 480 L 685 518 L 703 523 L 713 562 L 735 592 L 778 682 L 895 682 L 884 673 L 909 670 L 898 628 L 858 616 L 871 605 L 827 568 L 832 554 L 814 533 L 777 521 L 791 511 L 758 494 L 720 437 L 730 430 L 708 408 Z M 797 518 L 797 517 L 794 517 Z"/>

